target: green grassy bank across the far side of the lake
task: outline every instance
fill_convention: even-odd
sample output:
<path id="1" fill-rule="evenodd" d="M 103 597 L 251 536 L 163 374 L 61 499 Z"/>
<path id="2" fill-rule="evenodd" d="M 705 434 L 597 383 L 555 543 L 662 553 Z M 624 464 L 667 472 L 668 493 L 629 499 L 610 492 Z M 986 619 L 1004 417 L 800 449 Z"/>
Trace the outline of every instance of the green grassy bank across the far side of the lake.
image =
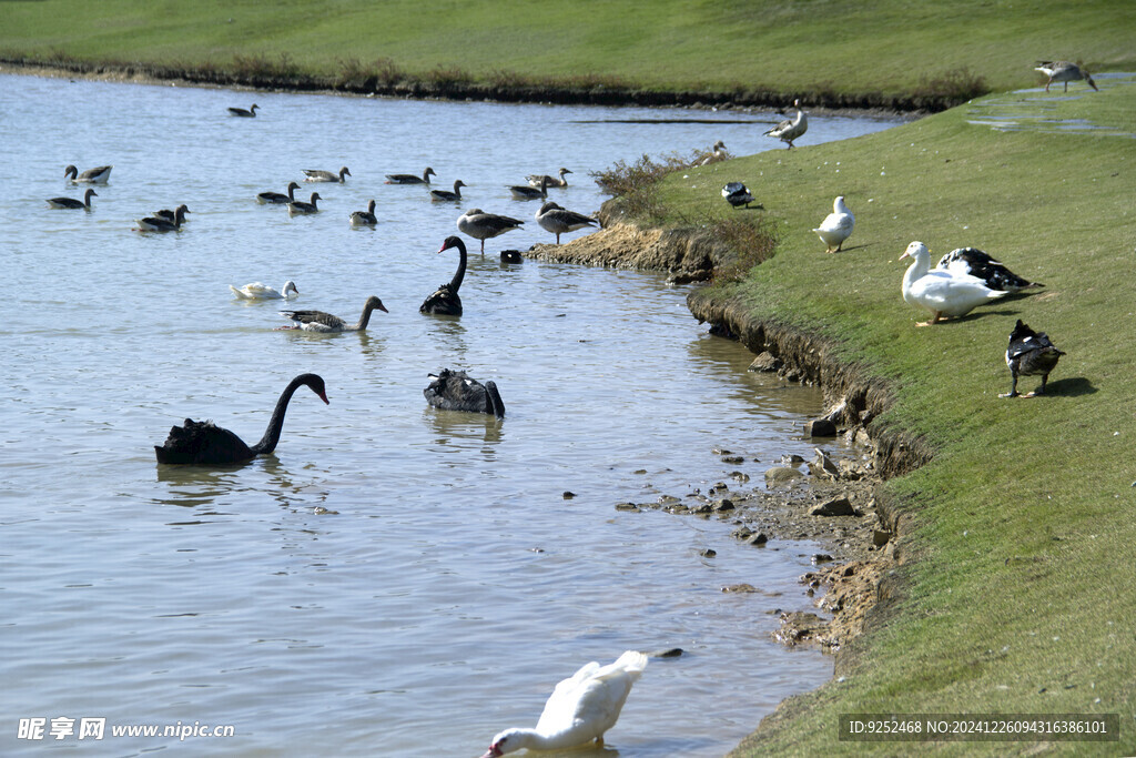
<path id="1" fill-rule="evenodd" d="M 1025 86 L 1039 57 L 1130 70 L 1134 26 L 1122 0 L 41 0 L 0 3 L 0 57 L 333 83 L 908 98 Z"/>

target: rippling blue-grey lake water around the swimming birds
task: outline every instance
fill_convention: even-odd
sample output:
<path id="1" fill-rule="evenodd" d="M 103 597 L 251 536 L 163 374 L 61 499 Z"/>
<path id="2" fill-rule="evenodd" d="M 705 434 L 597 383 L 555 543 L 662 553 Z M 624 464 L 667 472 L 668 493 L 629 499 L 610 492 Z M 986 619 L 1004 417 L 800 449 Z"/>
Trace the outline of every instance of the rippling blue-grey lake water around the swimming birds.
<path id="1" fill-rule="evenodd" d="M 227 116 L 253 101 L 256 119 Z M 763 124 L 729 123 L 762 117 L 662 116 L 720 123 L 0 75 L 0 752 L 139 755 L 182 741 L 112 726 L 232 725 L 184 742 L 474 756 L 535 725 L 579 665 L 678 647 L 651 661 L 604 755 L 718 756 L 828 678 L 829 659 L 769 639 L 771 610 L 805 605 L 811 545 L 755 549 L 728 522 L 615 510 L 737 486 L 736 469 L 757 485 L 782 453 L 811 455 L 800 424 L 819 392 L 746 373 L 751 356 L 709 336 L 662 275 L 498 257 L 551 241 L 536 203 L 506 189 L 526 174 L 570 168 L 550 192 L 592 213 L 603 197 L 588 172 L 617 160 L 719 139 L 735 155 L 780 148 Z M 891 125 L 810 124 L 801 144 Z M 82 195 L 67 164 L 114 165 L 93 210 L 44 202 Z M 298 193 L 320 192 L 316 216 L 253 201 L 341 166 L 345 184 Z M 436 186 L 466 182 L 468 200 L 383 183 L 426 166 Z M 371 198 L 377 228 L 350 228 Z M 181 202 L 181 232 L 132 231 Z M 457 255 L 435 251 L 470 207 L 528 223 L 484 258 L 474 247 L 462 317 L 419 315 L 453 274 Z M 279 332 L 278 302 L 227 286 L 287 278 L 292 307 L 353 323 L 377 294 L 390 314 L 365 333 Z M 441 367 L 494 380 L 507 417 L 428 408 Z M 152 445 L 185 417 L 258 440 L 303 372 L 325 377 L 331 405 L 301 389 L 274 455 L 156 464 Z M 763 593 L 721 592 L 740 582 Z M 22 739 L 35 718 L 43 739 Z M 57 740 L 60 718 L 74 733 Z M 106 719 L 102 741 L 80 740 L 84 718 Z"/>

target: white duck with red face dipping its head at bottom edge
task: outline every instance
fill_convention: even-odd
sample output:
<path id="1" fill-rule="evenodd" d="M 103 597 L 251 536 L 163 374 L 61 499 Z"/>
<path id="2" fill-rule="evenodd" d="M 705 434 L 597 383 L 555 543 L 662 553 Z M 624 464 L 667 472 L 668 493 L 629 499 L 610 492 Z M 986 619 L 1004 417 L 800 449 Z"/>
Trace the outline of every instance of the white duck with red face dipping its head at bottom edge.
<path id="1" fill-rule="evenodd" d="M 558 750 L 595 740 L 616 725 L 632 685 L 646 668 L 646 653 L 628 650 L 613 664 L 594 660 L 560 682 L 544 703 L 536 728 L 509 728 L 493 738 L 482 758 L 496 758 L 524 748 Z"/>

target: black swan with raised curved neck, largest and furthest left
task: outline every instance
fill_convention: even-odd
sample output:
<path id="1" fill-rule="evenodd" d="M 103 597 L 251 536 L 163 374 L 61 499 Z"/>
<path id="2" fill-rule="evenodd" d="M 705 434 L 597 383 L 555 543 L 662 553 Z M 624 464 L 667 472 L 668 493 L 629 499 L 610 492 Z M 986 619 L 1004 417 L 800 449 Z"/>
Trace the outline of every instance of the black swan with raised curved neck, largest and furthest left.
<path id="1" fill-rule="evenodd" d="M 307 384 L 319 399 L 327 402 L 324 380 L 316 374 L 300 374 L 289 382 L 276 401 L 273 417 L 260 442 L 251 448 L 241 438 L 212 422 L 195 422 L 186 418 L 183 426 L 173 426 L 161 447 L 153 445 L 159 464 L 240 464 L 276 449 L 284 427 L 287 403 L 301 384 Z"/>

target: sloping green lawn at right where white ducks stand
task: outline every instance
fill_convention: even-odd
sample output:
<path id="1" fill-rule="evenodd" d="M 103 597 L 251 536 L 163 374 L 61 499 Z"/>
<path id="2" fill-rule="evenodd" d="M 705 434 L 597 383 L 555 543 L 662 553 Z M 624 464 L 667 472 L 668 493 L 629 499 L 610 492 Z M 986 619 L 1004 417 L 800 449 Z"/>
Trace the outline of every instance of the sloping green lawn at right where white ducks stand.
<path id="1" fill-rule="evenodd" d="M 845 713 L 1119 713 L 1122 742 L 1056 743 L 1062 753 L 1136 749 L 1136 84 L 1079 97 L 994 95 L 887 132 L 775 150 L 671 175 L 673 218 L 765 217 L 776 255 L 694 297 L 740 302 L 842 345 L 886 380 L 895 402 L 874 425 L 921 438 L 933 463 L 887 483 L 912 528 L 899 600 L 838 666 L 843 681 L 791 701 L 740 748 L 860 753 L 837 742 Z M 994 131 L 976 115 L 1014 110 L 1085 119 L 1085 133 Z M 766 210 L 719 195 L 745 182 Z M 810 231 L 846 197 L 844 252 Z M 899 256 L 991 252 L 1046 286 L 971 316 L 917 328 Z M 1000 399 L 1014 320 L 1068 355 L 1050 394 Z M 1035 378 L 1022 378 L 1022 391 Z M 875 745 L 884 753 L 900 745 Z M 909 745 L 910 747 L 910 745 Z M 941 743 L 949 752 L 1029 752 L 1021 742 Z"/>

